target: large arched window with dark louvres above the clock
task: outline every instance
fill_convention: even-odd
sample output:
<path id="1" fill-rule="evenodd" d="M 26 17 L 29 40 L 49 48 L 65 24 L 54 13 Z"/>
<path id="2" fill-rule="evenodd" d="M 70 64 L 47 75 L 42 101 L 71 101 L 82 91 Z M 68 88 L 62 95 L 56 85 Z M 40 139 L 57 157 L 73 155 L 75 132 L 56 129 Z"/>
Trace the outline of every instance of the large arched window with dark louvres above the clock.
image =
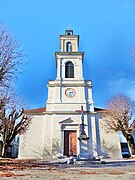
<path id="1" fill-rule="evenodd" d="M 74 78 L 74 65 L 72 62 L 67 62 L 65 66 L 65 78 Z"/>

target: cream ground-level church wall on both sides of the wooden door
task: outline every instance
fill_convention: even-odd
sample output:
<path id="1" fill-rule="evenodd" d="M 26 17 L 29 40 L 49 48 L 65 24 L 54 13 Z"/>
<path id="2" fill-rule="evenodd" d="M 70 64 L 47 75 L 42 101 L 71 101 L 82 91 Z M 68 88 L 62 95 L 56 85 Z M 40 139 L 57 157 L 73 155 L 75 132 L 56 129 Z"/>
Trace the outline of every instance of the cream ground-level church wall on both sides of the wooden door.
<path id="1" fill-rule="evenodd" d="M 64 123 L 67 119 L 71 123 Z M 99 124 L 97 124 L 99 123 Z M 45 114 L 33 115 L 32 123 L 25 135 L 20 138 L 19 158 L 46 158 L 63 155 L 64 130 L 76 130 L 80 135 L 80 114 Z M 104 156 L 121 157 L 119 135 L 106 133 L 102 127 L 102 120 L 95 115 L 84 115 L 85 132 L 89 139 L 89 153 L 91 157 Z M 99 128 L 99 129 L 98 129 Z M 97 132 L 96 132 L 97 131 Z M 80 147 L 77 139 L 77 154 Z"/>

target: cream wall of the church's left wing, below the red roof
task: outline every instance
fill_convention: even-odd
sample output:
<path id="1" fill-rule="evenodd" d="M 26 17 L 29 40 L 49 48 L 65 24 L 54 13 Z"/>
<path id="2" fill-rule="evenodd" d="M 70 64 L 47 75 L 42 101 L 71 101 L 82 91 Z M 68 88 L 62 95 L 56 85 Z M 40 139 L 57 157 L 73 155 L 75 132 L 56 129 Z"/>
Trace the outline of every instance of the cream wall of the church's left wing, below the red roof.
<path id="1" fill-rule="evenodd" d="M 29 129 L 20 136 L 19 158 L 42 158 L 45 115 L 33 115 Z"/>

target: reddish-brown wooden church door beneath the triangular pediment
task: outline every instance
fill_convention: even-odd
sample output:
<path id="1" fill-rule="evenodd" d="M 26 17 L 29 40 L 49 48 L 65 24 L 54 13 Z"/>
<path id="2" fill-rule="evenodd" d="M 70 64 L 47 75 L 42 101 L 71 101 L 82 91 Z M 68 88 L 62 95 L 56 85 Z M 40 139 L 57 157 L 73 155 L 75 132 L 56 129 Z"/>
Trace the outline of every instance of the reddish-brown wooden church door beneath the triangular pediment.
<path id="1" fill-rule="evenodd" d="M 77 155 L 76 131 L 64 131 L 64 155 Z"/>

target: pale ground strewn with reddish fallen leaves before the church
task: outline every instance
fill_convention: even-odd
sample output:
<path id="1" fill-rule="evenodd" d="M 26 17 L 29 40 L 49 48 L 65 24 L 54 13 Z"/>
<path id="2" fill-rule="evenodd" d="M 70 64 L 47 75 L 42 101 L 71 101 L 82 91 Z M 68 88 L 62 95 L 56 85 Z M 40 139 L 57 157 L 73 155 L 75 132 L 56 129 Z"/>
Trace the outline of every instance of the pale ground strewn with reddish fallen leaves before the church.
<path id="1" fill-rule="evenodd" d="M 43 160 L 0 159 L 0 179 L 134 180 L 135 161 L 67 165 Z"/>

